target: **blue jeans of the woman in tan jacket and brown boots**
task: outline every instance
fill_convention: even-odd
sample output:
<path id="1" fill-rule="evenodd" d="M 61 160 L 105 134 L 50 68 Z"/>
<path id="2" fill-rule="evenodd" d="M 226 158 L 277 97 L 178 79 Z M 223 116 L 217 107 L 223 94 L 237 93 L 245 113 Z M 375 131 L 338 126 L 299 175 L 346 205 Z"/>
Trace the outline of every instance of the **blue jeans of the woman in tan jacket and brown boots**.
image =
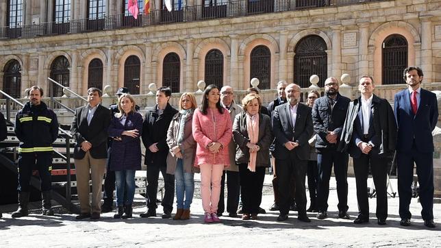
<path id="1" fill-rule="evenodd" d="M 175 179 L 176 179 L 176 205 L 177 208 L 190 209 L 190 204 L 193 201 L 194 193 L 194 173 L 184 172 L 184 165 L 182 160 L 179 158 L 177 160 L 175 169 Z M 184 202 L 184 193 L 186 195 L 186 200 Z"/>

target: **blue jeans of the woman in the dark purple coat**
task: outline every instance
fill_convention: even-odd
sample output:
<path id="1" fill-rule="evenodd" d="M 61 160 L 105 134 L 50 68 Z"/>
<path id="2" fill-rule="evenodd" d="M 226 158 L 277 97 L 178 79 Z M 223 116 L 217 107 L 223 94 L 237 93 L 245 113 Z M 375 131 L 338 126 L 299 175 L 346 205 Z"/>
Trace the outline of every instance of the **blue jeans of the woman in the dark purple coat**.
<path id="1" fill-rule="evenodd" d="M 116 206 L 131 205 L 134 202 L 135 196 L 135 170 L 115 171 L 115 177 Z"/>

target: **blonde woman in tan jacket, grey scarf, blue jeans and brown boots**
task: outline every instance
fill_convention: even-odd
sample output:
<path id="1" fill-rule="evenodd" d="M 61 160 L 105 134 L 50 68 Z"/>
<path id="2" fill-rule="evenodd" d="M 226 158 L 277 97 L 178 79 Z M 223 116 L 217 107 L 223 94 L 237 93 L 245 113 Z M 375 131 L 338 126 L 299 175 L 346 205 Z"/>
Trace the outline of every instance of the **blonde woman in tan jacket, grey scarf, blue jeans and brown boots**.
<path id="1" fill-rule="evenodd" d="M 190 219 L 190 204 L 194 193 L 194 153 L 196 142 L 192 136 L 192 119 L 197 108 L 193 93 L 185 92 L 179 99 L 179 112 L 173 116 L 167 132 L 167 173 L 174 174 L 176 180 L 177 212 L 174 220 Z M 185 201 L 184 201 L 185 196 Z"/>

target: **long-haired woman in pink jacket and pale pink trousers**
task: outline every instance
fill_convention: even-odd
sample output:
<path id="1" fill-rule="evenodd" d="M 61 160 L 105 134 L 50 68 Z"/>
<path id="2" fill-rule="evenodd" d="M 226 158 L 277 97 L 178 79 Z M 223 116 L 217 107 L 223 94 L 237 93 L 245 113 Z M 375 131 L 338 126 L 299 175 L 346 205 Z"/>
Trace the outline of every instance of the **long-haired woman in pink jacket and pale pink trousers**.
<path id="1" fill-rule="evenodd" d="M 201 197 L 205 223 L 219 222 L 216 214 L 220 179 L 229 166 L 228 143 L 232 136 L 229 112 L 220 106 L 219 89 L 205 88 L 201 107 L 194 110 L 192 132 L 197 142 L 194 166 L 201 169 Z"/>

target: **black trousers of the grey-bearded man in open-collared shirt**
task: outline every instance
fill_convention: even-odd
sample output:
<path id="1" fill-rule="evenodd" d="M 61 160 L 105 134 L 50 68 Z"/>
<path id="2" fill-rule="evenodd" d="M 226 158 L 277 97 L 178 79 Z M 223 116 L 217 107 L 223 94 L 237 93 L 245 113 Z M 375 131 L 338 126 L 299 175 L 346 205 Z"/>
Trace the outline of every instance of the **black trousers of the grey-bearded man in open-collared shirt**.
<path id="1" fill-rule="evenodd" d="M 277 176 L 279 177 L 279 211 L 288 214 L 290 211 L 290 190 L 292 190 L 291 177 L 294 175 L 296 187 L 295 201 L 299 214 L 306 214 L 305 177 L 307 160 L 300 160 L 292 154 L 288 160 L 277 160 Z"/>

